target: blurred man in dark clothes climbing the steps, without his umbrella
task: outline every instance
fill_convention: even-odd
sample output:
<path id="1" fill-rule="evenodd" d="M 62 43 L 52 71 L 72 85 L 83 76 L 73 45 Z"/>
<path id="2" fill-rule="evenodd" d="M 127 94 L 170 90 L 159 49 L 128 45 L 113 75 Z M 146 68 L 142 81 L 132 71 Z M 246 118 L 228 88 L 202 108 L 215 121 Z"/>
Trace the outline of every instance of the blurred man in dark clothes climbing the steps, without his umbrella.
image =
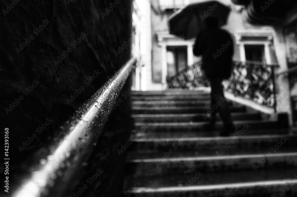
<path id="1" fill-rule="evenodd" d="M 233 40 L 230 33 L 219 28 L 217 18 L 208 17 L 205 22 L 206 29 L 198 34 L 193 53 L 197 56 L 202 55 L 202 69 L 211 86 L 211 106 L 217 106 L 217 110 L 209 117 L 210 122 L 215 123 L 218 111 L 224 122 L 224 129 L 220 135 L 229 136 L 235 131 L 235 127 L 224 96 L 222 80 L 228 79 L 231 75 Z"/>

